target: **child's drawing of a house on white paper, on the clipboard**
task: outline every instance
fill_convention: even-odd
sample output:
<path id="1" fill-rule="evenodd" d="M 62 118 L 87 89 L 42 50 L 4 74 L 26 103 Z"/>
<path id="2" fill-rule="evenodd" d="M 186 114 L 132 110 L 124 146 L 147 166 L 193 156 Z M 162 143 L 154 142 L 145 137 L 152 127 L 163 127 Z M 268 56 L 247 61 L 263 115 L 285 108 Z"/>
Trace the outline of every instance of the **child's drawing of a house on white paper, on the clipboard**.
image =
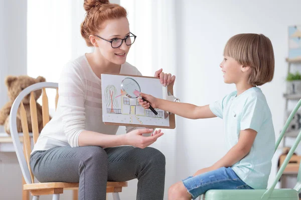
<path id="1" fill-rule="evenodd" d="M 140 106 L 138 98 L 129 98 L 126 96 L 126 93 L 121 89 L 121 81 L 125 77 L 126 76 L 121 75 L 102 74 L 101 86 L 105 88 L 102 90 L 102 96 L 104 96 L 102 99 L 103 121 L 169 126 L 169 117 L 165 116 L 163 110 L 156 108 L 158 114 L 155 115 L 152 110 L 144 109 Z M 150 80 L 148 80 L 139 78 L 141 77 L 135 77 L 135 79 L 139 81 L 142 92 L 162 98 L 162 85 L 158 79 L 149 78 Z M 153 81 L 154 84 L 147 81 Z M 152 86 L 150 87 L 149 85 Z"/>

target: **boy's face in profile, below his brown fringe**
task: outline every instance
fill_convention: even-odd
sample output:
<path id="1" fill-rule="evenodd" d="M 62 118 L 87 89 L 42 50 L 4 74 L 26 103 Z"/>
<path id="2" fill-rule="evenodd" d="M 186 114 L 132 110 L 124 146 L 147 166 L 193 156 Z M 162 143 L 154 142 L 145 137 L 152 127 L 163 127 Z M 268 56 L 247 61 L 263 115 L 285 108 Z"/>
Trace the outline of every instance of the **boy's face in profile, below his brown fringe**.
<path id="1" fill-rule="evenodd" d="M 220 63 L 222 68 L 224 82 L 237 84 L 244 76 L 241 70 L 242 65 L 239 64 L 234 58 L 224 56 L 223 61 Z"/>

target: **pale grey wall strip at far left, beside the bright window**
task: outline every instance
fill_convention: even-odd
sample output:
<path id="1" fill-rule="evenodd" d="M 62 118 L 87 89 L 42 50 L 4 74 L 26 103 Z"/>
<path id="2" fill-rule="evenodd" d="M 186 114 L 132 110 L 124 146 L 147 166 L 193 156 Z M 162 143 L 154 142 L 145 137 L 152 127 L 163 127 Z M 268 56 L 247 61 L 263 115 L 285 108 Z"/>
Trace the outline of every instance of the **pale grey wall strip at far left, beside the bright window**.
<path id="1" fill-rule="evenodd" d="M 0 1 L 0 107 L 9 100 L 5 77 L 26 73 L 26 4 L 27 0 Z"/>

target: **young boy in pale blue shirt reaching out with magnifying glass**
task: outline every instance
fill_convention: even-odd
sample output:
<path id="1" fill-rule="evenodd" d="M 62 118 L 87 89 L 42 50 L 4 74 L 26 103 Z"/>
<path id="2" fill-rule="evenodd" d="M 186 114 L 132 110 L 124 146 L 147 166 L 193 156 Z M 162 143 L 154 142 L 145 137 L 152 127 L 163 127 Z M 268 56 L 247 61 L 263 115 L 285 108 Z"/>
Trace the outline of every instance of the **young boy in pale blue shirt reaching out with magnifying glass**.
<path id="1" fill-rule="evenodd" d="M 258 85 L 274 74 L 271 41 L 262 34 L 237 34 L 224 49 L 220 64 L 225 83 L 236 91 L 210 105 L 172 102 L 141 93 L 150 105 L 192 119 L 224 119 L 228 152 L 212 166 L 173 184 L 169 199 L 195 199 L 209 189 L 263 189 L 271 169 L 275 133 L 265 96 Z M 139 99 L 146 109 L 149 103 Z"/>

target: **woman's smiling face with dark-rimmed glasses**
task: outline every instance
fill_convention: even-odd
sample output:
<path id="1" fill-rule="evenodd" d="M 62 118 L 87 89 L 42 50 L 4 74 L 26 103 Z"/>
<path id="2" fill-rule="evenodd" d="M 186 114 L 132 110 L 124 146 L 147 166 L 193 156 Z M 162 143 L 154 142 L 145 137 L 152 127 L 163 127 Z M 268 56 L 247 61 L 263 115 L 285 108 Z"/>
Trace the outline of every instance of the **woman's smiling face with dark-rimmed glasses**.
<path id="1" fill-rule="evenodd" d="M 102 37 L 96 38 L 96 46 L 100 53 L 104 58 L 108 61 L 113 62 L 115 64 L 123 64 L 126 60 L 127 53 L 129 51 L 130 45 L 126 45 L 125 40 L 122 40 L 121 46 L 117 48 L 113 48 L 118 46 L 121 42 L 120 39 L 124 39 L 130 35 L 129 32 L 129 23 L 126 17 L 118 18 L 118 19 L 109 19 L 106 20 L 102 24 L 102 28 L 97 32 L 97 35 Z M 117 38 L 120 38 L 117 40 Z M 113 41 L 112 44 L 108 41 Z M 133 42 L 133 37 L 127 39 L 127 43 L 129 44 L 129 39 Z"/>

